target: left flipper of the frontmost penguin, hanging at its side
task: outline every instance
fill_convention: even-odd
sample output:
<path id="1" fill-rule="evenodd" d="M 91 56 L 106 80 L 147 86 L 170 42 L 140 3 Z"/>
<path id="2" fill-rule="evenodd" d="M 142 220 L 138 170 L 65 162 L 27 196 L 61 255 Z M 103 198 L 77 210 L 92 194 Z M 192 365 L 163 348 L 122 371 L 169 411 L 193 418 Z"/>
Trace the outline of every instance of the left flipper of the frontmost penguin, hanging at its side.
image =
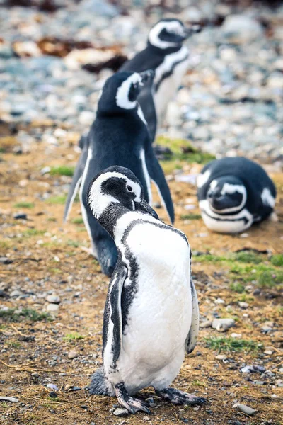
<path id="1" fill-rule="evenodd" d="M 125 266 L 117 266 L 113 272 L 113 276 L 109 285 L 109 301 L 110 301 L 110 317 L 108 324 L 108 337 L 109 340 L 106 346 L 110 346 L 110 357 L 108 361 L 104 362 L 105 372 L 107 373 L 110 369 L 116 368 L 116 362 L 120 356 L 121 345 L 122 345 L 122 307 L 121 307 L 121 295 L 122 289 L 127 278 L 127 268 Z M 110 333 L 110 335 L 109 335 Z M 104 356 L 108 350 L 104 349 Z M 103 358 L 103 361 L 105 358 Z"/>

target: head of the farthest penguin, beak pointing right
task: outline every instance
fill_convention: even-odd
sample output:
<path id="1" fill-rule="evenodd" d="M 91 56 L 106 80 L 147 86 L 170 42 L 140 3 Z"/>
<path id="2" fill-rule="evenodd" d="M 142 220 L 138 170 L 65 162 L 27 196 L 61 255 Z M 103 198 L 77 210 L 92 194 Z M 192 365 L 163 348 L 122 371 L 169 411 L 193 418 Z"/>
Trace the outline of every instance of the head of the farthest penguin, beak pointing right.
<path id="1" fill-rule="evenodd" d="M 200 32 L 200 26 L 198 25 L 186 28 L 179 19 L 161 19 L 149 31 L 149 45 L 162 50 L 180 48 L 186 38 L 198 32 Z"/>

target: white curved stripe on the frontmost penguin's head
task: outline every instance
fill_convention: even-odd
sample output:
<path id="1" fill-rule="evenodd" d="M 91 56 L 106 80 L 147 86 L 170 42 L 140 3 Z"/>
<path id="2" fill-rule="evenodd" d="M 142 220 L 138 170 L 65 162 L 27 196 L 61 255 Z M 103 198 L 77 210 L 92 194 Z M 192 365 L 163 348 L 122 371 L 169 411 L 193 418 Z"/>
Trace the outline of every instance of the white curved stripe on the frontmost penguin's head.
<path id="1" fill-rule="evenodd" d="M 108 171 L 107 173 L 101 174 L 96 181 L 94 181 L 91 186 L 91 191 L 89 193 L 88 202 L 93 212 L 93 215 L 96 218 L 99 218 L 103 213 L 105 208 L 110 205 L 110 203 L 119 203 L 119 200 L 114 198 L 113 196 L 107 195 L 103 193 L 101 190 L 101 186 L 104 181 L 110 179 L 111 177 L 117 177 L 118 179 L 124 179 L 127 182 L 127 185 L 132 187 L 132 190 L 136 196 L 134 200 L 137 202 L 141 202 L 141 186 L 135 181 L 132 181 L 127 178 L 124 174 L 117 173 L 116 171 Z"/>

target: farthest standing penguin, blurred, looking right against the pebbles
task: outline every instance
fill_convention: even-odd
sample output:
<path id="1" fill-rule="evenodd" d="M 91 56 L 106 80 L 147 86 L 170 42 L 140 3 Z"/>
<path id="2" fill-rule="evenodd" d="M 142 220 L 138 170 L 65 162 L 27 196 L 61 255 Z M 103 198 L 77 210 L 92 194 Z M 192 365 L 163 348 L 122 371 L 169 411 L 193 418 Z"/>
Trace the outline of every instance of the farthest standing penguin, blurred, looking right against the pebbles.
<path id="1" fill-rule="evenodd" d="M 152 142 L 157 118 L 166 111 L 189 66 L 189 50 L 183 46 L 183 41 L 199 31 L 200 26 L 185 28 L 183 22 L 175 18 L 161 19 L 149 31 L 146 49 L 120 68 L 120 71 L 155 71 L 154 86 L 145 86 L 138 97 Z"/>

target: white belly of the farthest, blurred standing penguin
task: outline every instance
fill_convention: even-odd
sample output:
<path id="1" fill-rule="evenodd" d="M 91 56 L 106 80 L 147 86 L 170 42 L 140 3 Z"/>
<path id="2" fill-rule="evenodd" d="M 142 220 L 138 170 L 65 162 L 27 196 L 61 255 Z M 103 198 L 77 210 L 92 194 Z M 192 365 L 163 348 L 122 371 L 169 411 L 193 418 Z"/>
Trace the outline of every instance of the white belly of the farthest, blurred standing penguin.
<path id="1" fill-rule="evenodd" d="M 175 65 L 173 73 L 161 81 L 156 94 L 154 94 L 154 103 L 156 106 L 156 113 L 158 118 L 165 113 L 168 103 L 173 100 L 175 94 L 178 90 L 178 87 L 181 84 L 183 76 L 187 72 L 187 67 L 189 65 L 189 60 L 184 60 L 179 64 Z"/>

